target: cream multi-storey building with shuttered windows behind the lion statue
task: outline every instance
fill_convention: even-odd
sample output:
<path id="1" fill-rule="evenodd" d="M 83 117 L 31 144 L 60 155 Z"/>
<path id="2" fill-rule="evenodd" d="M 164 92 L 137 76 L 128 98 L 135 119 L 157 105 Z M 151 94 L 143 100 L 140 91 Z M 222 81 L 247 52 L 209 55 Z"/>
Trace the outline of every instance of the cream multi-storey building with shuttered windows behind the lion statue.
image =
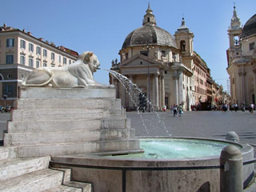
<path id="1" fill-rule="evenodd" d="M 77 57 L 73 50 L 4 24 L 0 27 L 0 105 L 13 105 L 22 79 L 34 68 L 69 65 Z"/>

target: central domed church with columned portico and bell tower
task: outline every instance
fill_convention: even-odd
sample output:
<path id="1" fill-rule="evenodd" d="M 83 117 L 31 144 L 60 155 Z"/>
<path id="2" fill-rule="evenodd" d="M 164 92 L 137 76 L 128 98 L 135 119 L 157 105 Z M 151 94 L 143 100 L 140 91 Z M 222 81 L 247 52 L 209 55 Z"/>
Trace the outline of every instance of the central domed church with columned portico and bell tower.
<path id="1" fill-rule="evenodd" d="M 174 38 L 175 37 L 175 38 Z M 206 78 L 210 70 L 206 63 L 193 50 L 194 34 L 186 27 L 184 18 L 182 26 L 174 37 L 157 26 L 150 4 L 142 20 L 142 26 L 130 32 L 119 51 L 120 62 L 112 61 L 111 70 L 125 75 L 142 89 L 142 94 L 154 106 L 161 110 L 165 106 L 182 104 L 184 110 L 197 102 L 206 102 Z M 201 89 L 194 85 L 193 72 L 196 69 L 204 74 Z M 116 88 L 117 98 L 122 99 L 122 106 L 134 109 L 134 103 L 125 88 L 112 74 L 110 84 Z M 204 87 L 203 87 L 204 86 Z"/>

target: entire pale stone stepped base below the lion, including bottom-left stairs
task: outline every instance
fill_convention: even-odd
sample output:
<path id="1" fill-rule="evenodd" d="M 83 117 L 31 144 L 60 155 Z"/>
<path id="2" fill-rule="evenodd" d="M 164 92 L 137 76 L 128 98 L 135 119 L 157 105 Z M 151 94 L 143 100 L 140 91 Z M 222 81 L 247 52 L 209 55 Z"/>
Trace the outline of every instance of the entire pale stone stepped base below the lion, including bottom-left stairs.
<path id="1" fill-rule="evenodd" d="M 141 151 L 114 91 L 22 89 L 0 146 L 0 192 L 91 192 L 69 169 L 49 168 L 50 158 Z"/>

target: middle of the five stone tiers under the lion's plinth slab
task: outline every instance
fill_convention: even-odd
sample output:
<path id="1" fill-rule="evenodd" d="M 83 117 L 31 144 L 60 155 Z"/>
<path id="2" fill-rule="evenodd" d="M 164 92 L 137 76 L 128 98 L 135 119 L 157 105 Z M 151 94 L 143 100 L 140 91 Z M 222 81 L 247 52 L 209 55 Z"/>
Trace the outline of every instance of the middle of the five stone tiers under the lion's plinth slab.
<path id="1" fill-rule="evenodd" d="M 36 126 L 34 126 L 36 125 Z M 46 122 L 8 122 L 8 133 L 43 133 L 69 130 L 99 130 L 130 128 L 130 119 L 110 118 L 94 120 L 59 120 Z M 1 158 L 0 158 L 1 159 Z"/>

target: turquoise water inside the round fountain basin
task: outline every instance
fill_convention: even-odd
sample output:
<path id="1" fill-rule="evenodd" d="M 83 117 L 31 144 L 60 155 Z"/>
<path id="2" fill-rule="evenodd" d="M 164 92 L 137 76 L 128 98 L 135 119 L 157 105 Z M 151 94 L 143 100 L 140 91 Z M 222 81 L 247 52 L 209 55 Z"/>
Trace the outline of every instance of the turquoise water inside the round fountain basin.
<path id="1" fill-rule="evenodd" d="M 220 156 L 227 142 L 179 139 L 179 138 L 146 138 L 140 139 L 140 147 L 145 150 L 141 154 L 116 155 L 113 158 L 202 158 Z"/>

